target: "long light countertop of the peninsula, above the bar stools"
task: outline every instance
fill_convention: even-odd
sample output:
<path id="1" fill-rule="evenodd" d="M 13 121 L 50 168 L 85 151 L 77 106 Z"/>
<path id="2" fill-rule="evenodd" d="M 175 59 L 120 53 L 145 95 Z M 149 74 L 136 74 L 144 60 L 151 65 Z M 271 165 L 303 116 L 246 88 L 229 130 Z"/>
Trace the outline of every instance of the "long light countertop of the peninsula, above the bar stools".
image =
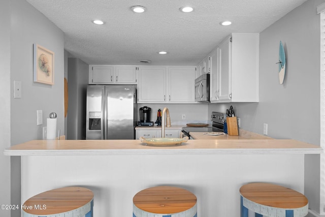
<path id="1" fill-rule="evenodd" d="M 323 149 L 292 139 L 198 139 L 169 147 L 148 146 L 140 140 L 32 140 L 4 150 L 6 156 L 278 153 L 319 154 Z"/>

